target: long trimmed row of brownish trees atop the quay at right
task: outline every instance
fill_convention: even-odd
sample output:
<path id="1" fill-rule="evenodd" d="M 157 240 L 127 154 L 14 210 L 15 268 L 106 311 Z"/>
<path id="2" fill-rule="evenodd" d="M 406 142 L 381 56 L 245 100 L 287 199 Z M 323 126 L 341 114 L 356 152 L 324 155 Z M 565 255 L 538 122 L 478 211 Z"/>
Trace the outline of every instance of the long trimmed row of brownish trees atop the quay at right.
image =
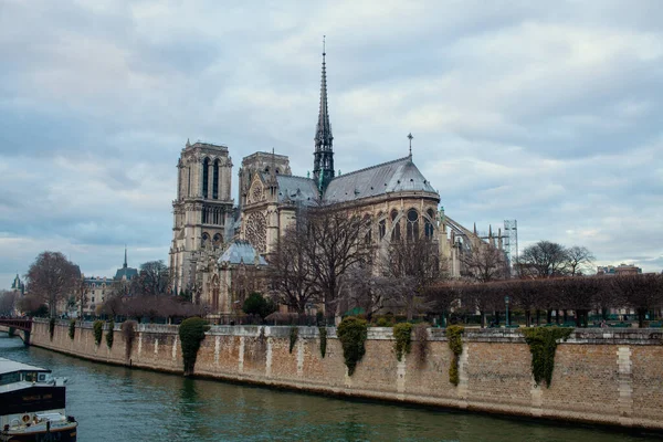
<path id="1" fill-rule="evenodd" d="M 550 323 L 552 312 L 556 318 L 575 312 L 577 325 L 587 323 L 590 311 L 600 312 L 608 317 L 611 308 L 635 311 L 640 326 L 646 314 L 663 308 L 663 275 L 622 275 L 558 277 L 540 280 L 509 280 L 483 284 L 438 283 L 425 292 L 430 313 L 455 313 L 481 315 L 482 326 L 485 317 L 505 311 L 508 296 L 512 309 L 524 313 L 526 324 L 546 315 Z"/>

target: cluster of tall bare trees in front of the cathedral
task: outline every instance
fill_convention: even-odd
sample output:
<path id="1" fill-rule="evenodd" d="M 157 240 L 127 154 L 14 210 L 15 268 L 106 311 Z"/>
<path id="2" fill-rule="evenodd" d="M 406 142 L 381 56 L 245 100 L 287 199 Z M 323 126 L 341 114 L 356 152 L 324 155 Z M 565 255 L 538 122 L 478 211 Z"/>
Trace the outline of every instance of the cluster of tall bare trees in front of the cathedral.
<path id="1" fill-rule="evenodd" d="M 301 213 L 270 256 L 271 296 L 299 314 L 322 303 L 327 316 L 358 306 L 370 317 L 393 305 L 411 318 L 417 297 L 440 277 L 436 243 L 413 232 L 376 250 L 370 235 L 370 224 L 350 211 Z"/>

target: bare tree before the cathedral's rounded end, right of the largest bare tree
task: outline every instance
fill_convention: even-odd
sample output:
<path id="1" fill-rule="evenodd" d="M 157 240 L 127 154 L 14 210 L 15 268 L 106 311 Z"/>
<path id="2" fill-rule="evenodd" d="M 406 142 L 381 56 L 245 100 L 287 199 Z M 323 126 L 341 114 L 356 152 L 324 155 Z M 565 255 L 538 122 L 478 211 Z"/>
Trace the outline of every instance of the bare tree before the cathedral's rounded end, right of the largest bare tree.
<path id="1" fill-rule="evenodd" d="M 440 277 L 438 243 L 423 236 L 393 240 L 382 266 L 383 273 L 394 281 L 407 282 L 403 298 L 408 319 L 412 319 L 415 301 Z"/>

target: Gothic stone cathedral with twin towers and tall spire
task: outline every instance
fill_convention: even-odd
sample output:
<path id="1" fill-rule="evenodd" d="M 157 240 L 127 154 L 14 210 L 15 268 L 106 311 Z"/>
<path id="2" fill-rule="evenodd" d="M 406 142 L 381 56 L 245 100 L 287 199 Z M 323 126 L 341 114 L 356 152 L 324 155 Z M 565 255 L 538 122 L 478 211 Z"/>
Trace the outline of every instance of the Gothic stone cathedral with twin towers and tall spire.
<path id="1" fill-rule="evenodd" d="M 440 262 L 452 276 L 460 275 L 463 249 L 486 243 L 476 229 L 463 228 L 438 208 L 440 193 L 413 162 L 411 135 L 407 157 L 335 172 L 325 57 L 323 52 L 313 177 L 293 175 L 287 156 L 252 154 L 242 159 L 234 206 L 228 147 L 187 141 L 181 151 L 172 202 L 173 291 L 190 291 L 212 316 L 236 312 L 251 291 L 260 291 L 269 265 L 265 256 L 302 208 L 338 207 L 360 213 L 379 248 L 391 239 L 425 235 L 438 242 Z M 494 244 L 492 234 L 490 241 Z"/>

